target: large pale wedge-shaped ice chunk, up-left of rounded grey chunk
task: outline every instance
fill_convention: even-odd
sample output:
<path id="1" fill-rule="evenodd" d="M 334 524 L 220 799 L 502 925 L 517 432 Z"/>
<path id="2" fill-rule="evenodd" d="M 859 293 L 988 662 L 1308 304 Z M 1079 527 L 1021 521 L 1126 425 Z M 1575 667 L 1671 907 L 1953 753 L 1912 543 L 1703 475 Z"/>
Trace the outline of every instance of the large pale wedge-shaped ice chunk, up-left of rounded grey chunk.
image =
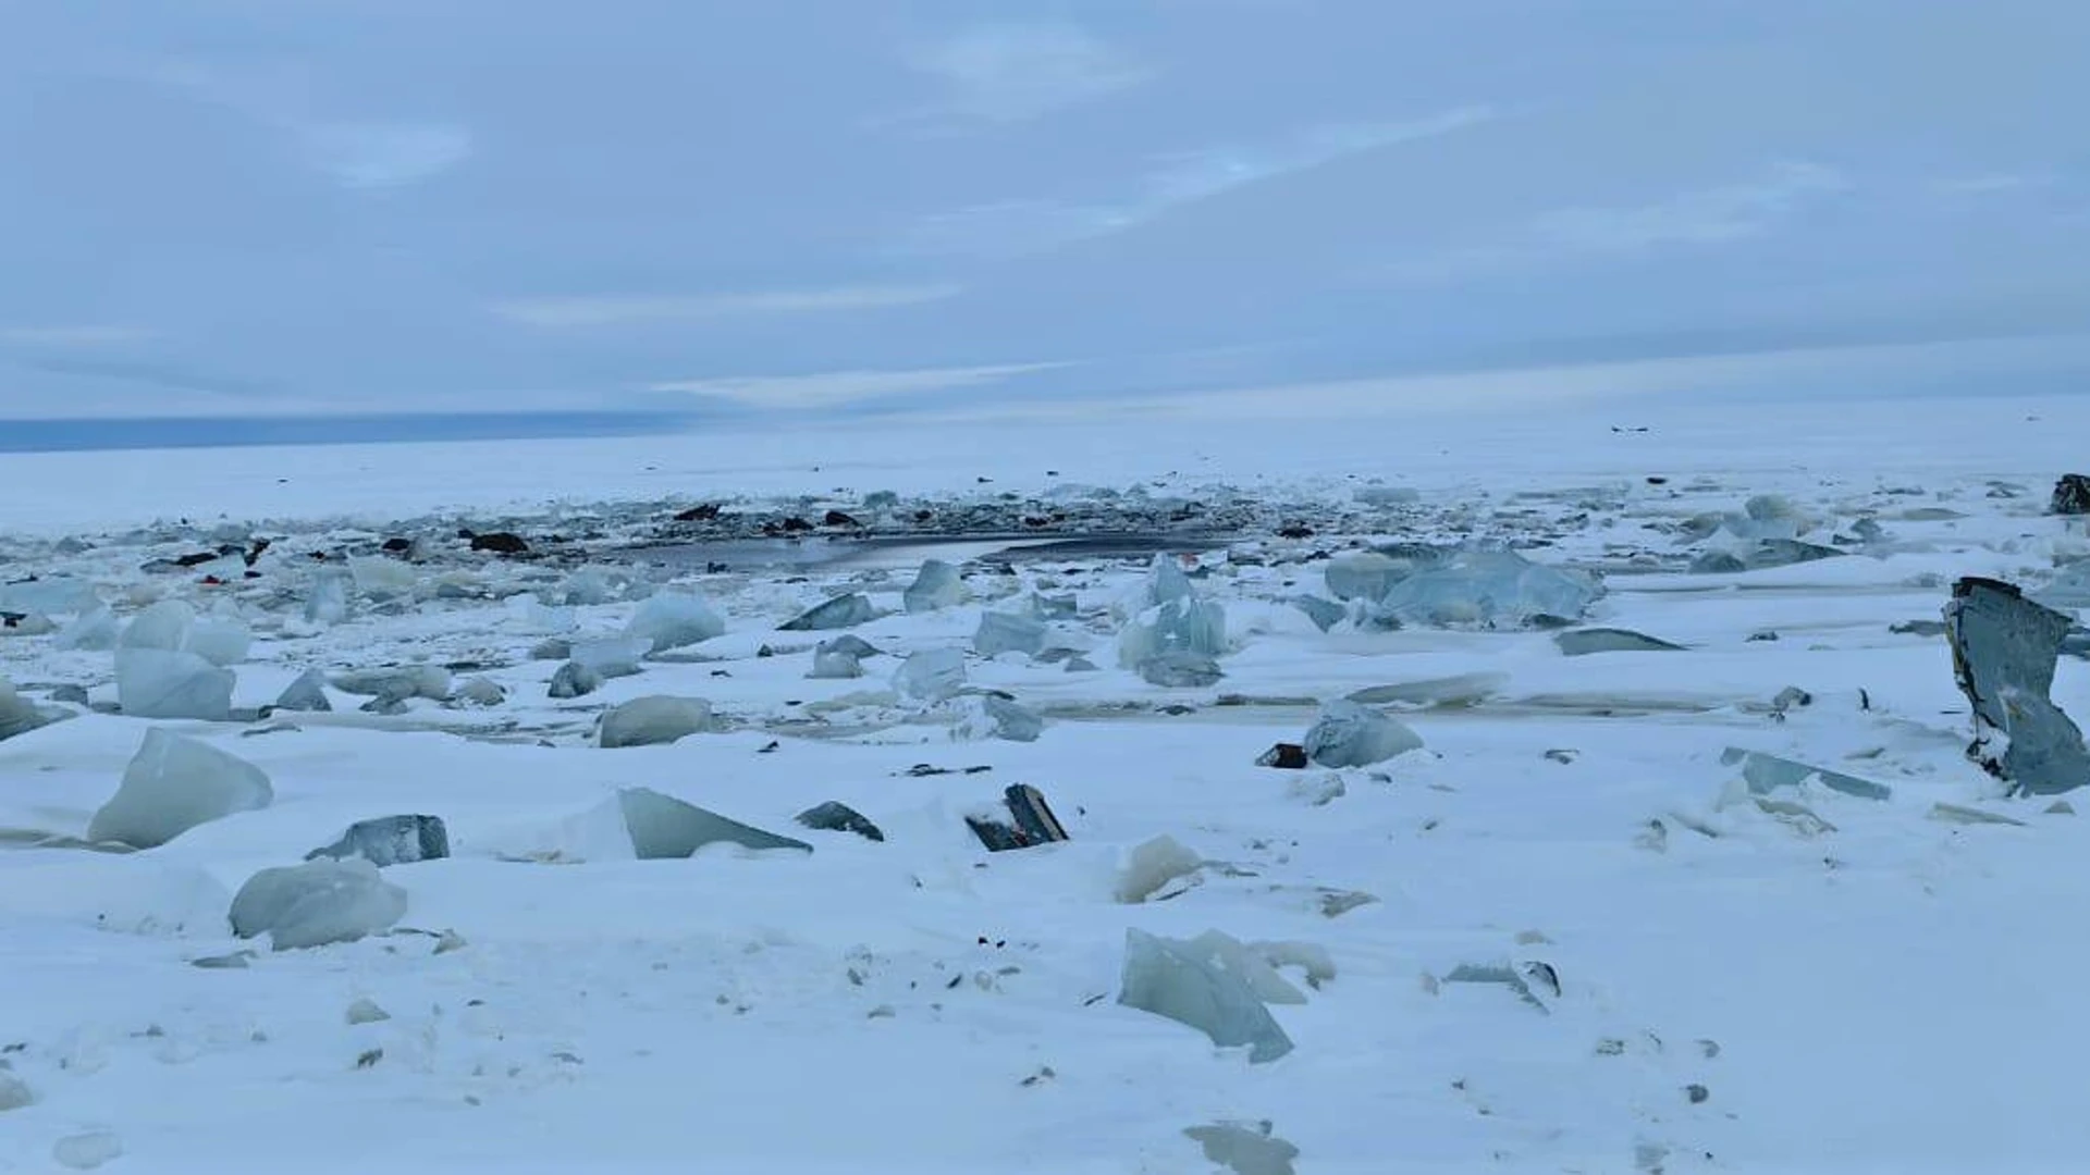
<path id="1" fill-rule="evenodd" d="M 155 849 L 182 832 L 276 799 L 268 774 L 207 742 L 153 728 L 123 784 L 88 822 L 88 840 Z"/>

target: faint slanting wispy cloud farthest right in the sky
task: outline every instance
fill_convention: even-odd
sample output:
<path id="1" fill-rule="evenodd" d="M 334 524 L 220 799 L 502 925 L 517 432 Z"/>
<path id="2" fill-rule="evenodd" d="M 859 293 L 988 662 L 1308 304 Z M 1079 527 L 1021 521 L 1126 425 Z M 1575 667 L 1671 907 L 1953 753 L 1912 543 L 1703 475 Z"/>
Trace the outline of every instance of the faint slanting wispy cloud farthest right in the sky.
<path id="1" fill-rule="evenodd" d="M 1745 182 L 1676 192 L 1653 203 L 1545 211 L 1505 240 L 1404 259 L 1390 268 L 1390 276 L 1467 278 L 1666 247 L 1726 245 L 1770 234 L 1806 207 L 1850 186 L 1833 167 L 1785 161 Z"/>

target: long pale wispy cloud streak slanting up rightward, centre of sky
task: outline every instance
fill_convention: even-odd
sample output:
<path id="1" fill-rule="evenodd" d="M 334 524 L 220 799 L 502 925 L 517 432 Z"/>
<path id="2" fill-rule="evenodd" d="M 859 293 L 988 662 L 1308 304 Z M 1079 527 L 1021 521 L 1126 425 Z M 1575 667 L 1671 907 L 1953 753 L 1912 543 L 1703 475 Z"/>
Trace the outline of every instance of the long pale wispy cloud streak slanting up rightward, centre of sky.
<path id="1" fill-rule="evenodd" d="M 1170 155 L 1131 184 L 1120 199 L 1099 203 L 1001 201 L 945 211 L 918 222 L 899 243 L 903 253 L 1022 257 L 1078 240 L 1139 228 L 1212 197 L 1292 176 L 1350 155 L 1436 138 L 1492 121 L 1492 107 L 1459 107 L 1415 121 L 1333 123 L 1262 146 L 1214 146 Z"/>

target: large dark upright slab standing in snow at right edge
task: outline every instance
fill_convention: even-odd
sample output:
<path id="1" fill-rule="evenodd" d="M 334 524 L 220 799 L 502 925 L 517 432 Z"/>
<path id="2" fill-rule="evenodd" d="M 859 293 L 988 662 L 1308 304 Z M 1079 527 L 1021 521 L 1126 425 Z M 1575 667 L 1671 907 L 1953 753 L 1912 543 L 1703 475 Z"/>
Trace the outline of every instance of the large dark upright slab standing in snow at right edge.
<path id="1" fill-rule="evenodd" d="M 1973 702 L 1967 757 L 2011 784 L 2013 797 L 2090 782 L 2084 734 L 2048 696 L 2067 633 L 2069 617 L 2027 600 L 2015 583 L 1967 577 L 1952 585 L 1946 640 L 1952 677 Z"/>

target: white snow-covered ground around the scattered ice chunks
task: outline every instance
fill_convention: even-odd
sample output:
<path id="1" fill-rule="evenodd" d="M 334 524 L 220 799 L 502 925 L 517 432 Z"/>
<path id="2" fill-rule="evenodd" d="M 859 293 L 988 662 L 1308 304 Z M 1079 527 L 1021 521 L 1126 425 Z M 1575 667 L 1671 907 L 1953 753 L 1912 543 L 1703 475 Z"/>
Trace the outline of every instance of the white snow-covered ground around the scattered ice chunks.
<path id="1" fill-rule="evenodd" d="M 117 713 L 109 650 L 63 648 L 79 602 L 50 608 L 59 633 L 0 636 L 0 677 L 69 713 L 0 742 L 0 1106 L 31 1098 L 0 1108 L 0 1171 L 1202 1173 L 1223 1167 L 1185 1129 L 1262 1121 L 1298 1156 L 1244 1173 L 2075 1169 L 2090 828 L 2000 799 L 1965 759 L 1944 640 L 1894 625 L 1935 621 L 1958 575 L 2038 590 L 2090 554 L 2080 521 L 2046 514 L 2086 424 L 2090 397 L 1235 404 L 1216 420 L 8 456 L 0 579 L 82 581 L 119 623 L 186 600 L 255 640 L 232 721 L 146 721 Z M 1120 665 L 1156 588 L 1143 556 L 857 550 L 821 525 L 995 506 L 1060 514 L 1039 533 L 1068 537 L 1127 500 L 1175 533 L 1229 502 L 1267 514 L 1160 544 L 1225 608 L 1210 686 Z M 834 558 L 773 539 L 773 562 L 734 544 L 711 571 L 711 548 L 635 550 L 686 535 L 669 519 L 700 502 L 725 527 L 811 519 Z M 470 552 L 460 525 L 533 552 Z M 1841 554 L 1691 569 L 1758 531 Z M 251 569 L 159 562 L 259 537 Z M 391 537 L 418 539 L 410 558 L 380 554 Z M 1563 656 L 1515 617 L 1392 629 L 1365 600 L 1323 631 L 1294 602 L 1329 596 L 1331 554 L 1463 539 L 1601 575 L 1584 625 L 1682 648 Z M 364 588 L 391 569 L 399 590 L 349 581 L 343 619 L 314 615 L 347 556 L 389 560 L 357 562 Z M 905 610 L 924 556 L 961 562 L 970 598 Z M 619 636 L 663 592 L 702 596 L 727 631 L 548 696 L 543 642 Z M 880 613 L 849 629 L 878 654 L 863 677 L 813 679 L 813 646 L 838 633 L 777 625 L 840 592 Z M 568 613 L 575 594 L 602 602 Z M 1093 671 L 974 652 L 982 610 L 1066 594 L 1047 646 Z M 936 648 L 966 650 L 966 692 L 895 692 L 901 659 Z M 309 669 L 422 663 L 449 671 L 451 700 L 366 713 L 330 688 L 332 713 L 259 713 Z M 1446 677 L 1421 690 L 1436 702 L 1377 707 L 1421 751 L 1256 765 L 1321 702 Z M 1789 686 L 1808 700 L 1774 705 Z M 989 690 L 1043 734 L 984 730 Z M 596 744 L 606 707 L 652 694 L 706 698 L 717 730 Z M 2082 661 L 2063 659 L 2054 700 L 2090 715 Z M 257 765 L 272 803 L 144 851 L 88 847 L 150 728 Z M 1820 780 L 1756 797 L 1728 748 L 1891 797 Z M 966 815 L 1012 784 L 1047 797 L 1066 843 L 974 838 Z M 619 788 L 813 851 L 633 859 Z M 823 801 L 884 840 L 794 822 Z M 451 851 L 382 870 L 408 895 L 397 926 L 286 951 L 234 937 L 255 872 L 395 813 L 439 815 Z M 1202 863 L 1120 901 L 1158 836 Z M 1304 995 L 1271 1006 L 1296 1047 L 1250 1062 L 1118 1001 L 1133 928 L 1306 943 L 1333 976 L 1279 968 Z M 238 951 L 247 966 L 194 966 Z M 1457 983 L 1463 964 L 1507 966 L 1530 997 Z M 387 1018 L 351 1022 L 357 1001 Z"/>

